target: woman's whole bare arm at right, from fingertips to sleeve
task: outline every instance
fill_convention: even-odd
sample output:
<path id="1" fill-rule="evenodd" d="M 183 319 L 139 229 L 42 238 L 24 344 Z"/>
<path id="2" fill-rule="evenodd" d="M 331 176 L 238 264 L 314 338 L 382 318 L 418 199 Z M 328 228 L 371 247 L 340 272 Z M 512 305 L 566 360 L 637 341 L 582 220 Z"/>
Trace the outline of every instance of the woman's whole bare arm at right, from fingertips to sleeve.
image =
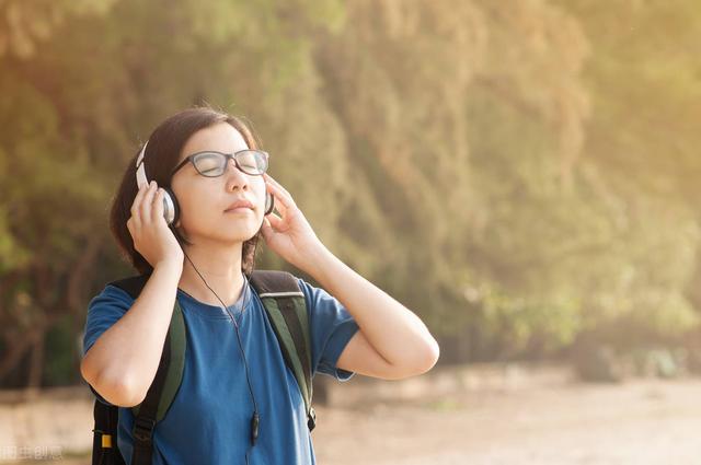
<path id="1" fill-rule="evenodd" d="M 281 212 L 281 217 L 269 213 L 263 221 L 266 245 L 319 281 L 359 327 L 336 367 L 388 380 L 430 370 L 438 360 L 439 348 L 426 325 L 329 252 L 287 189 L 267 173 L 263 177 L 266 190 L 279 200 L 276 205 Z"/>

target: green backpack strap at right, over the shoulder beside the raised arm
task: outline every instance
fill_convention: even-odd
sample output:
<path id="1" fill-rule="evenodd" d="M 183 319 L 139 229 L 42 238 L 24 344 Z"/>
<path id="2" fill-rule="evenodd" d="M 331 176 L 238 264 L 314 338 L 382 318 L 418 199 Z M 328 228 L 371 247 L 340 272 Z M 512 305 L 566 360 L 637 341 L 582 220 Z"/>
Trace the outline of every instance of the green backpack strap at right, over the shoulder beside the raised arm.
<path id="1" fill-rule="evenodd" d="M 304 293 L 287 271 L 254 270 L 250 281 L 263 302 L 287 367 L 295 374 L 304 399 L 307 426 L 312 431 L 317 414 L 311 405 L 311 339 Z"/>

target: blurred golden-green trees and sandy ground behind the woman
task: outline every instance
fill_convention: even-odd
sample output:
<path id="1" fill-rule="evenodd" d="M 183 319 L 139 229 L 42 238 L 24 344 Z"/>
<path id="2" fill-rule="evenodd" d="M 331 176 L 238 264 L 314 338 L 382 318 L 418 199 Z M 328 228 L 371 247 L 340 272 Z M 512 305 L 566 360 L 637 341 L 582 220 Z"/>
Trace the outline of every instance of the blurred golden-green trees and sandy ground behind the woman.
<path id="1" fill-rule="evenodd" d="M 693 463 L 700 43 L 693 0 L 0 0 L 0 461 L 85 463 L 87 304 L 134 274 L 111 198 L 211 105 L 440 342 L 414 384 L 318 376 L 324 463 Z"/>

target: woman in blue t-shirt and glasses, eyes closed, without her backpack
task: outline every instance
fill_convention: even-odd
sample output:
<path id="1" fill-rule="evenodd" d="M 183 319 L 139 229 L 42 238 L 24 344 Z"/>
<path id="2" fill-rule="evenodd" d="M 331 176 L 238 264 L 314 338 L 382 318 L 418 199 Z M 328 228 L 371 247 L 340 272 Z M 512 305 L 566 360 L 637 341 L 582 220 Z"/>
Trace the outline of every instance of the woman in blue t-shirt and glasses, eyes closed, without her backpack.
<path id="1" fill-rule="evenodd" d="M 207 164 L 203 155 L 191 156 L 204 152 L 253 158 L 212 155 L 220 164 Z M 299 388 L 246 279 L 261 236 L 325 289 L 298 278 L 309 310 L 312 373 L 395 380 L 435 364 L 438 345 L 426 326 L 321 243 L 290 194 L 266 173 L 267 156 L 242 120 L 211 108 L 185 109 L 151 133 L 142 163 L 151 183 L 137 188 L 133 160 L 111 228 L 131 265 L 150 277 L 136 300 L 114 286 L 91 300 L 81 363 L 102 400 L 124 407 L 117 444 L 127 461 L 134 444 L 128 407 L 145 398 L 154 377 L 177 299 L 187 327 L 185 369 L 154 429 L 153 464 L 314 463 Z M 163 216 L 163 188 L 180 206 L 172 224 Z M 265 214 L 266 196 L 279 216 Z M 261 417 L 253 447 L 250 390 Z"/>

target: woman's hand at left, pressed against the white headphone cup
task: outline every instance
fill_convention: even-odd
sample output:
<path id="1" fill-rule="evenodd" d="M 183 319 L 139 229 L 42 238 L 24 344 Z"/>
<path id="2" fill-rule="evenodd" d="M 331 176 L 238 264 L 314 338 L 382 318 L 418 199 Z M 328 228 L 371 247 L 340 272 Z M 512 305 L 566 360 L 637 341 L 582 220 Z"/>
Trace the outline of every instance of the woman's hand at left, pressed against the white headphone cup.
<path id="1" fill-rule="evenodd" d="M 127 229 L 134 240 L 134 248 L 156 268 L 162 263 L 183 265 L 184 253 L 163 217 L 163 189 L 157 189 L 156 181 L 141 186 L 134 204 Z"/>

